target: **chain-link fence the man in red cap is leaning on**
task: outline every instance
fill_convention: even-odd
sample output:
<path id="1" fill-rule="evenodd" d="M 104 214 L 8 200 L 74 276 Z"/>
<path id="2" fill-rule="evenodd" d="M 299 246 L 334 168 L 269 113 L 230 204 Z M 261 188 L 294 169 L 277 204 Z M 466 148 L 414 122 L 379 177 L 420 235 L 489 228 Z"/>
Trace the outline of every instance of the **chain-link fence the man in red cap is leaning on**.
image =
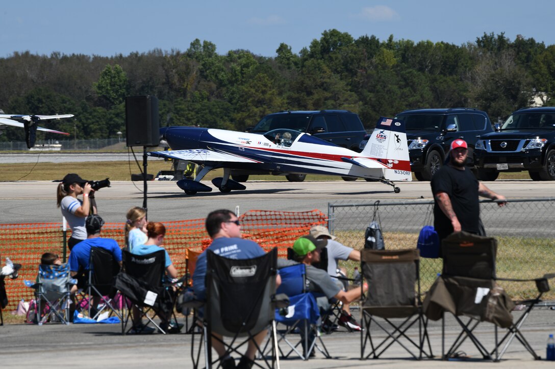
<path id="1" fill-rule="evenodd" d="M 328 216 L 330 232 L 354 249 L 364 248 L 364 233 L 374 218 L 381 224 L 386 249 L 416 248 L 420 229 L 433 225 L 433 201 L 336 202 L 329 204 Z M 504 207 L 481 201 L 480 217 L 487 235 L 498 242 L 499 278 L 531 279 L 555 273 L 555 199 L 515 199 Z M 356 266 L 354 262 L 346 265 L 349 271 Z M 441 269 L 442 259 L 421 259 L 422 291 L 430 288 Z M 499 284 L 516 300 L 537 294 L 533 281 Z M 553 287 L 543 299 L 555 300 Z"/>

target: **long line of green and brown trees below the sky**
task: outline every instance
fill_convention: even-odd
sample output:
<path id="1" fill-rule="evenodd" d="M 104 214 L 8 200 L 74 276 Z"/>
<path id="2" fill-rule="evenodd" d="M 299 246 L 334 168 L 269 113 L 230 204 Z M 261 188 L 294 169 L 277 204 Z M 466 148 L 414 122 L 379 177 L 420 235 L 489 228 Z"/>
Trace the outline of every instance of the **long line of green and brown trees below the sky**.
<path id="1" fill-rule="evenodd" d="M 242 49 L 218 54 L 215 44 L 199 39 L 185 52 L 14 52 L 0 59 L 0 80 L 6 114 L 74 114 L 48 127 L 78 139 L 125 132 L 125 96 L 137 95 L 157 96 L 161 126 L 244 130 L 270 112 L 347 109 L 371 129 L 380 116 L 406 109 L 476 107 L 497 121 L 534 98 L 549 105 L 555 45 L 521 35 L 511 41 L 504 33 L 455 45 L 393 35 L 355 39 L 330 29 L 298 54 L 281 43 L 275 57 Z M 23 130 L 7 130 L 0 141 L 23 140 Z"/>

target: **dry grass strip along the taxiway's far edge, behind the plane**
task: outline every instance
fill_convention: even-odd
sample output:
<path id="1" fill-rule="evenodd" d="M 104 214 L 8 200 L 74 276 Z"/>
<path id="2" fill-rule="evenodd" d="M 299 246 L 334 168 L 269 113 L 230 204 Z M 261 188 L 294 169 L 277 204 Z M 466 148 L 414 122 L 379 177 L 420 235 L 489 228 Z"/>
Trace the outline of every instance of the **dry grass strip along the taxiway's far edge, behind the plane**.
<path id="1" fill-rule="evenodd" d="M 131 156 L 133 158 L 133 156 Z M 142 155 L 139 155 L 139 165 L 135 161 L 106 161 L 79 163 L 20 163 L 0 164 L 0 181 L 53 181 L 63 178 L 67 173 L 78 173 L 82 178 L 103 180 L 108 177 L 112 181 L 130 181 L 131 175 L 140 173 L 143 169 Z M 140 169 L 139 169 L 140 166 Z M 149 160 L 147 172 L 157 175 L 159 171 L 171 170 L 171 162 L 163 160 Z M 211 171 L 204 180 L 221 177 L 222 170 Z M 307 181 L 339 180 L 339 176 L 307 175 Z M 500 180 L 529 179 L 528 172 L 501 173 Z M 251 176 L 256 181 L 287 181 L 285 176 Z M 413 180 L 416 180 L 413 176 Z M 363 181 L 359 178 L 358 181 Z"/>

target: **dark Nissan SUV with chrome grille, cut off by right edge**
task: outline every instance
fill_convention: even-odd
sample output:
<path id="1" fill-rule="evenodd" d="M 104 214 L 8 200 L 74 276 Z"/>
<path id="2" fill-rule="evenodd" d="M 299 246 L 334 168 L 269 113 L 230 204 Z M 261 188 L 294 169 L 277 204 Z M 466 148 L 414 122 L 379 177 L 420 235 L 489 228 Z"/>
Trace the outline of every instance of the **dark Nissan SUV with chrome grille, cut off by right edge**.
<path id="1" fill-rule="evenodd" d="M 495 181 L 501 171 L 526 170 L 534 181 L 555 180 L 555 107 L 513 112 L 497 132 L 480 137 L 475 160 L 485 181 Z"/>

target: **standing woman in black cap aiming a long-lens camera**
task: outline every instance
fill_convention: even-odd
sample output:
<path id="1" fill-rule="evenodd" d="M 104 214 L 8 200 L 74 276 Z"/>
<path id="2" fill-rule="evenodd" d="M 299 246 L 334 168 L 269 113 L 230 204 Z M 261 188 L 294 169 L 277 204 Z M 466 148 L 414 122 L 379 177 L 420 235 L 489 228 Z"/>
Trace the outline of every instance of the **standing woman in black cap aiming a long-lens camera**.
<path id="1" fill-rule="evenodd" d="M 77 198 L 80 194 L 83 195 L 83 200 Z M 87 238 L 85 218 L 89 214 L 97 214 L 94 190 L 90 187 L 89 181 L 83 180 L 75 173 L 69 173 L 62 183 L 58 184 L 57 195 L 58 207 L 62 208 L 62 215 L 72 230 L 68 240 L 68 247 L 71 250 L 74 245 Z"/>

